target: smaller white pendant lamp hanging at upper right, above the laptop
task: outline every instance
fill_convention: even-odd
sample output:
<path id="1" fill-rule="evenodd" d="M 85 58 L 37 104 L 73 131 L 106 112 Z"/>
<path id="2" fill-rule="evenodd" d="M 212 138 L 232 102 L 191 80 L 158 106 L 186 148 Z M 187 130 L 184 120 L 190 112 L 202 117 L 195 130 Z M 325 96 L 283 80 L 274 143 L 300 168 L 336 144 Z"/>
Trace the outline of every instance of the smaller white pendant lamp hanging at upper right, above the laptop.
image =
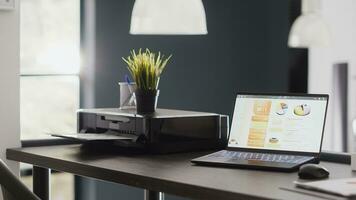
<path id="1" fill-rule="evenodd" d="M 289 33 L 288 46 L 293 48 L 326 47 L 330 32 L 320 13 L 320 0 L 302 0 L 302 14 Z"/>

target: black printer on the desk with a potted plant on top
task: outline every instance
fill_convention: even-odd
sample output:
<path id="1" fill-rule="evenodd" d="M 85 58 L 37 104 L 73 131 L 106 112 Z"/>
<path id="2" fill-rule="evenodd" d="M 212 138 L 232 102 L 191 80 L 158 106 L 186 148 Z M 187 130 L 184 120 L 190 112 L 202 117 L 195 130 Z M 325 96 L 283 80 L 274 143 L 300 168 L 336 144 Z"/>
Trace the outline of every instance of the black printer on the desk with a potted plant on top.
<path id="1" fill-rule="evenodd" d="M 229 117 L 215 113 L 157 109 L 140 115 L 136 109 L 103 108 L 77 114 L 78 134 L 117 136 L 111 144 L 152 153 L 224 148 L 229 132 Z"/>

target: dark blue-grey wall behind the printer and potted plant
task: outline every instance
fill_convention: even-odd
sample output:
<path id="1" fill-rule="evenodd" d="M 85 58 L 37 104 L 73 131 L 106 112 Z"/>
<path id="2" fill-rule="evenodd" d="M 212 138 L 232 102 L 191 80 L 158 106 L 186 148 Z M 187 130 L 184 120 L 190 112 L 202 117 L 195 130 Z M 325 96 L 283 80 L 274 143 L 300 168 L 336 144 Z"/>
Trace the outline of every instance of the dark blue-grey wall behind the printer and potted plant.
<path id="1" fill-rule="evenodd" d="M 297 0 L 203 0 L 209 31 L 205 36 L 129 35 L 133 2 L 96 1 L 95 107 L 118 107 L 117 82 L 127 74 L 121 57 L 133 48 L 173 54 L 161 78 L 159 107 L 231 116 L 238 91 L 287 92 L 291 84 L 293 88 L 300 85 L 291 82 L 290 72 L 298 72 L 296 63 L 305 63 L 298 61 L 304 53 L 298 51 L 298 57 L 293 57 L 287 47 L 295 17 L 291 8 L 300 7 Z M 306 83 L 305 74 L 298 74 L 298 80 L 304 78 Z M 83 193 L 87 194 L 86 184 L 96 188 L 96 197 L 86 200 L 140 199 L 143 195 L 138 189 L 81 181 Z"/>

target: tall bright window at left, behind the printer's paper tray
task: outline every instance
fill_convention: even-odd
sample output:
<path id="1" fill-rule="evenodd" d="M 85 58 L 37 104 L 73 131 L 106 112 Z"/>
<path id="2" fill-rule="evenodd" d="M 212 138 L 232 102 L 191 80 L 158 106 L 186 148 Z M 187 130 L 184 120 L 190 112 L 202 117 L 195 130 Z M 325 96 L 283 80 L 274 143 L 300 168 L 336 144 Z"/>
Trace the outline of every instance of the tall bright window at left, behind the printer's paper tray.
<path id="1" fill-rule="evenodd" d="M 22 0 L 20 8 L 21 139 L 75 132 L 80 0 Z"/>

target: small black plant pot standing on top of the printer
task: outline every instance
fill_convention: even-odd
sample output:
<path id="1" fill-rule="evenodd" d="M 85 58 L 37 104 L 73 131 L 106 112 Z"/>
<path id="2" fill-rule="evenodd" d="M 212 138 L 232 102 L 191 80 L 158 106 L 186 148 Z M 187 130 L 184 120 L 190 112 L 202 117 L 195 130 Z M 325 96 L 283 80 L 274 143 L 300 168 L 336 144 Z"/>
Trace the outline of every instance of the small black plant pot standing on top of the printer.
<path id="1" fill-rule="evenodd" d="M 135 90 L 136 108 L 139 114 L 151 114 L 156 111 L 159 90 Z"/>

